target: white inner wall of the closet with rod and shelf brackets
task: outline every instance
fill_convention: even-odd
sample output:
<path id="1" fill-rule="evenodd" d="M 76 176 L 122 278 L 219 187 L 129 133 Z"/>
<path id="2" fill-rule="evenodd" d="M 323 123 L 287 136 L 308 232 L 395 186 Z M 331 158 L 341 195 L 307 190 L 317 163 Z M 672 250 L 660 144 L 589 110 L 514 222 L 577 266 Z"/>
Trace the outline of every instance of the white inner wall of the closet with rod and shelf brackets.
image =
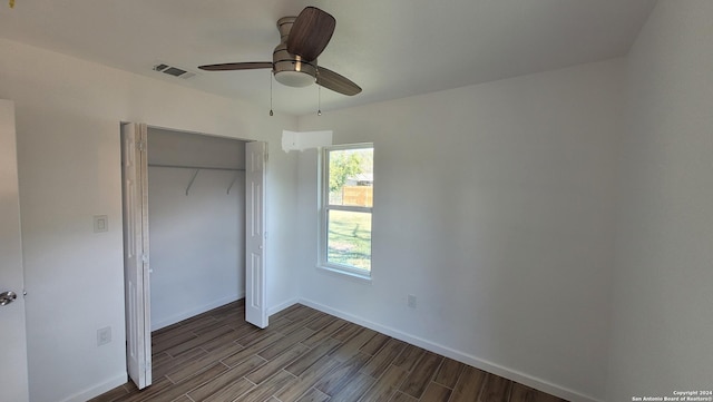
<path id="1" fill-rule="evenodd" d="M 245 295 L 245 141 L 148 129 L 152 331 Z"/>

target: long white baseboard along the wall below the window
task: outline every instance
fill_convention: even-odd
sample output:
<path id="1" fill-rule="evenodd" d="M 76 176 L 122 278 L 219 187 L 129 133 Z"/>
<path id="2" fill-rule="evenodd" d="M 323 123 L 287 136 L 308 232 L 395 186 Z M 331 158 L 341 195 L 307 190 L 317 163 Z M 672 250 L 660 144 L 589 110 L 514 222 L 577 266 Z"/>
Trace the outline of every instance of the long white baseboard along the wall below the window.
<path id="1" fill-rule="evenodd" d="M 399 330 L 394 330 L 392 327 L 385 326 L 385 325 L 381 325 L 368 320 L 364 320 L 362 317 L 355 316 L 353 314 L 349 314 L 339 310 L 334 310 L 332 307 L 325 306 L 323 304 L 320 303 L 315 303 L 313 301 L 306 300 L 306 298 L 300 298 L 296 301 L 297 303 L 301 303 L 305 306 L 319 310 L 323 313 L 326 314 L 331 314 L 334 316 L 338 316 L 340 318 L 346 320 L 349 322 L 352 322 L 354 324 L 359 324 L 361 326 L 365 326 L 368 329 L 374 330 L 377 332 L 381 332 L 382 334 L 389 335 L 391 337 L 394 337 L 399 341 L 403 341 L 407 343 L 410 343 L 412 345 L 422 347 L 427 351 L 433 352 L 433 353 L 438 353 L 440 355 L 443 355 L 446 357 L 459 361 L 461 363 L 466 363 L 469 365 L 472 365 L 476 369 L 480 369 L 482 371 L 486 371 L 488 373 L 492 373 L 499 376 L 502 376 L 505 379 L 508 380 L 512 380 L 515 382 L 519 382 L 520 384 L 534 388 L 536 390 L 543 391 L 543 392 L 547 392 L 549 394 L 553 394 L 555 396 L 565 399 L 567 401 L 572 401 L 572 402 L 600 402 L 599 400 L 582 394 L 579 392 L 569 390 L 567 388 L 563 388 L 556 384 L 553 384 L 550 382 L 547 382 L 545 380 L 538 379 L 536 376 L 529 375 L 529 374 L 525 374 L 521 373 L 517 370 L 511 370 L 508 367 L 505 367 L 502 365 L 479 359 L 477 356 L 473 356 L 471 354 L 467 354 L 460 351 L 456 351 L 453 349 L 450 349 L 448 346 L 443 346 L 440 345 L 438 343 L 418 337 L 418 336 L 413 336 L 410 334 L 407 334 L 404 332 L 401 332 Z"/>

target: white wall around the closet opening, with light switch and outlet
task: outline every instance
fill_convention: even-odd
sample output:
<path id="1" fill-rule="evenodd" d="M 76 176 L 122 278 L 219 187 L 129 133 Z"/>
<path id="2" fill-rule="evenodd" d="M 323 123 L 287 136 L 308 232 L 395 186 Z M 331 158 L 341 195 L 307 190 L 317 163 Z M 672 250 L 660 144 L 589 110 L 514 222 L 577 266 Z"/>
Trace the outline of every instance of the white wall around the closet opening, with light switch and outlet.
<path id="1" fill-rule="evenodd" d="M 16 101 L 30 398 L 85 401 L 126 379 L 119 122 L 262 139 L 279 150 L 296 119 L 8 40 L 0 98 Z M 296 157 L 271 155 L 268 305 L 279 306 L 296 297 Z M 99 214 L 109 232 L 94 234 Z M 113 342 L 97 346 L 105 326 Z"/>

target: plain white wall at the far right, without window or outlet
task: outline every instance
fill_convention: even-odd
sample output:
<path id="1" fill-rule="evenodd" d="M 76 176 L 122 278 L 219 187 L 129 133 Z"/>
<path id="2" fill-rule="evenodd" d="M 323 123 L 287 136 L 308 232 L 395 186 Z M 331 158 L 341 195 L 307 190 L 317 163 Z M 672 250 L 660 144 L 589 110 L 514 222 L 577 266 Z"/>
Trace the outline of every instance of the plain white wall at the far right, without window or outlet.
<path id="1" fill-rule="evenodd" d="M 713 384 L 713 2 L 660 1 L 628 56 L 608 400 Z"/>

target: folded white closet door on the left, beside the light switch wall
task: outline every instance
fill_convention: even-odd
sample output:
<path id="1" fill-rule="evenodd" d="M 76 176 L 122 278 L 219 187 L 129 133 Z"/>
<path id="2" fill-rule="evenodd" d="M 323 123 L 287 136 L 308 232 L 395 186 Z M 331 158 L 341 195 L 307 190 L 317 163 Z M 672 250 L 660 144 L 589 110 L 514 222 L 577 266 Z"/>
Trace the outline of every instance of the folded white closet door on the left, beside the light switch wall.
<path id="1" fill-rule="evenodd" d="M 146 125 L 121 127 L 126 359 L 138 389 L 152 384 Z"/>

